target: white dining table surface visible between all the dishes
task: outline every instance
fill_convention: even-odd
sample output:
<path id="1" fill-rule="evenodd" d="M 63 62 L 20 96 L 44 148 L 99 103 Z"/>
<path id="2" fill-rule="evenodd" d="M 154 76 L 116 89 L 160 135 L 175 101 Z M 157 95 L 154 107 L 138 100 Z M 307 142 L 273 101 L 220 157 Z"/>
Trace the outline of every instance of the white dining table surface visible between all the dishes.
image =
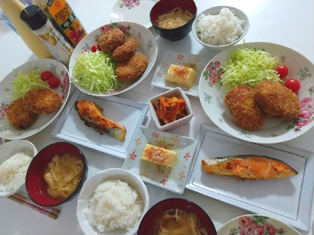
<path id="1" fill-rule="evenodd" d="M 69 5 L 83 24 L 87 32 L 111 22 L 111 9 L 116 0 L 68 0 Z M 206 8 L 225 5 L 233 6 L 244 11 L 249 20 L 250 28 L 244 37 L 246 42 L 272 42 L 281 44 L 298 51 L 314 63 L 314 1 L 313 0 L 195 0 L 198 13 Z M 180 41 L 168 41 L 160 38 L 154 29 L 150 29 L 156 37 L 158 55 L 154 68 L 149 75 L 133 89 L 124 92 L 119 97 L 130 100 L 147 102 L 150 97 L 164 92 L 162 88 L 150 86 L 153 73 L 160 63 L 165 50 L 214 57 L 217 52 L 211 52 L 194 39 L 192 32 Z M 0 80 L 13 68 L 23 63 L 36 59 L 36 56 L 28 49 L 20 37 L 14 33 L 5 23 L 0 22 Z M 72 92 L 74 86 L 72 86 Z M 201 123 L 213 125 L 206 116 L 197 97 L 189 97 L 194 117 L 191 123 L 170 130 L 191 138 L 197 138 Z M 27 138 L 39 150 L 47 145 L 60 140 L 50 135 L 56 122 L 51 123 L 41 132 Z M 145 124 L 156 128 L 149 113 Z M 314 152 L 314 129 L 304 133 L 298 138 L 287 141 L 288 144 L 300 149 Z M 89 170 L 88 177 L 97 171 L 109 168 L 121 168 L 123 160 L 97 152 L 83 146 L 78 146 L 85 154 Z M 314 170 L 314 169 L 313 169 Z M 160 187 L 145 183 L 149 192 L 150 206 L 158 201 L 171 197 L 189 199 L 201 206 L 214 222 L 218 231 L 229 220 L 252 212 L 240 209 L 236 206 L 215 200 L 185 190 L 182 195 L 164 190 Z M 27 196 L 26 189 L 20 192 Z M 57 208 L 61 210 L 59 217 L 53 220 L 26 206 L 22 206 L 8 198 L 0 199 L 0 235 L 80 235 L 83 234 L 76 218 L 77 197 Z M 289 206 L 289 205 L 287 205 Z M 310 206 L 310 205 L 309 205 Z M 311 222 L 314 219 L 314 203 L 312 203 Z M 312 234 L 300 231 L 303 235 Z"/>

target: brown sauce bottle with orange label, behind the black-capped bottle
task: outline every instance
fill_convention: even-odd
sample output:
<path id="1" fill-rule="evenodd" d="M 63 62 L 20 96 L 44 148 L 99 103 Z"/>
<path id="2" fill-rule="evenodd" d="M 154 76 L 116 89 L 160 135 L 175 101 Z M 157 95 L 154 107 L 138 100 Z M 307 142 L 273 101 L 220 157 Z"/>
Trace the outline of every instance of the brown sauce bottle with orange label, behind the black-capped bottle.
<path id="1" fill-rule="evenodd" d="M 33 0 L 73 47 L 87 35 L 66 0 Z"/>

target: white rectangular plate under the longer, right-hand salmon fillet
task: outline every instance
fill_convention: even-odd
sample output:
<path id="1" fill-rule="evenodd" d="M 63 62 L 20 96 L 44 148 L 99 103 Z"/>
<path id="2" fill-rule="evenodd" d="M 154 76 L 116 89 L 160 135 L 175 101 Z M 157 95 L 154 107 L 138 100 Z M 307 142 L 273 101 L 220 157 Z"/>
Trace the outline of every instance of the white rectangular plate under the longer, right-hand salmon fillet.
<path id="1" fill-rule="evenodd" d="M 313 153 L 285 144 L 261 145 L 229 136 L 202 123 L 186 188 L 257 214 L 310 230 L 314 188 Z M 270 180 L 236 180 L 202 170 L 202 159 L 253 154 L 284 161 L 298 175 Z"/>

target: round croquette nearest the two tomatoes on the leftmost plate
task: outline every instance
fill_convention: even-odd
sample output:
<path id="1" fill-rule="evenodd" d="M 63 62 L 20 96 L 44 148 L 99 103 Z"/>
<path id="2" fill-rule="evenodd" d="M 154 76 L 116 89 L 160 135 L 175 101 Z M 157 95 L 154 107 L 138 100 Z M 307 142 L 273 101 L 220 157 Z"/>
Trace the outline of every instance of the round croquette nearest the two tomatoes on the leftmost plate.
<path id="1" fill-rule="evenodd" d="M 23 104 L 37 114 L 49 114 L 62 106 L 62 98 L 57 91 L 50 88 L 36 88 L 25 94 Z"/>

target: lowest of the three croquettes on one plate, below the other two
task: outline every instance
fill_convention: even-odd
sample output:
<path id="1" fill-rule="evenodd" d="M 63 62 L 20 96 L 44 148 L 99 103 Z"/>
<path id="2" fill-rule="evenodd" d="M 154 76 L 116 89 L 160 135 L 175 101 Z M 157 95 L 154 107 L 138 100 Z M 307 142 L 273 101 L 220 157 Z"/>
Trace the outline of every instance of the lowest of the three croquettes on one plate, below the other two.
<path id="1" fill-rule="evenodd" d="M 147 66 L 147 57 L 142 54 L 135 54 L 131 59 L 116 65 L 116 79 L 118 81 L 133 81 L 141 76 Z"/>

